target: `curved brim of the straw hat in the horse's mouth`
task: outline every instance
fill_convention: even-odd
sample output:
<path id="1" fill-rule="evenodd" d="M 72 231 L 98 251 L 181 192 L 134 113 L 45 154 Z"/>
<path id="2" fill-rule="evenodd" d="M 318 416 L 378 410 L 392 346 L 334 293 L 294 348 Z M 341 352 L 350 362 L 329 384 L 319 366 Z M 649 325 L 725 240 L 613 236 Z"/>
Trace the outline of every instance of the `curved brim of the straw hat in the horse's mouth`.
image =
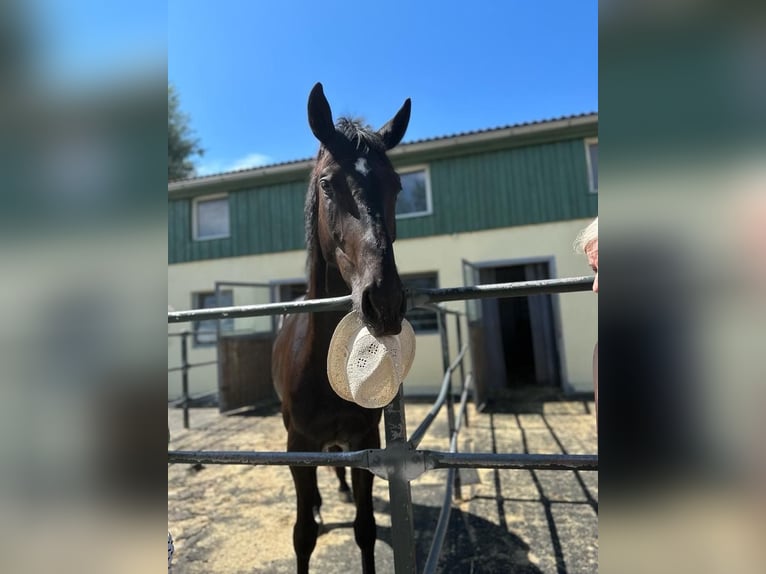
<path id="1" fill-rule="evenodd" d="M 351 394 L 351 386 L 348 380 L 348 343 L 353 341 L 363 328 L 364 324 L 359 315 L 352 311 L 338 323 L 327 352 L 327 377 L 330 380 L 330 386 L 332 386 L 339 397 L 352 403 L 356 401 Z M 415 360 L 415 332 L 407 319 L 402 320 L 399 345 L 402 352 L 402 380 L 404 380 L 407 378 L 407 374 L 410 372 L 412 363 Z"/>

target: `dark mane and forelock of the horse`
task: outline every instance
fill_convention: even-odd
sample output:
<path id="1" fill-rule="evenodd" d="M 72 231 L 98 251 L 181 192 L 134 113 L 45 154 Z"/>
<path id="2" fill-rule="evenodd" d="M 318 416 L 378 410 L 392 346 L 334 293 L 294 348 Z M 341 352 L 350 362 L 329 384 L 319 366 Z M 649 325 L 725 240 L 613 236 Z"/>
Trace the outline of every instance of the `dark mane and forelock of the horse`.
<path id="1" fill-rule="evenodd" d="M 383 138 L 372 127 L 367 125 L 362 118 L 338 118 L 335 131 L 342 135 L 351 148 L 359 155 L 376 155 L 390 165 L 386 156 L 386 146 Z M 311 272 L 311 266 L 317 246 L 317 182 L 319 173 L 324 169 L 325 162 L 330 154 L 324 145 L 319 146 L 314 169 L 311 171 L 306 202 L 303 208 L 303 220 L 306 224 L 306 274 Z"/>

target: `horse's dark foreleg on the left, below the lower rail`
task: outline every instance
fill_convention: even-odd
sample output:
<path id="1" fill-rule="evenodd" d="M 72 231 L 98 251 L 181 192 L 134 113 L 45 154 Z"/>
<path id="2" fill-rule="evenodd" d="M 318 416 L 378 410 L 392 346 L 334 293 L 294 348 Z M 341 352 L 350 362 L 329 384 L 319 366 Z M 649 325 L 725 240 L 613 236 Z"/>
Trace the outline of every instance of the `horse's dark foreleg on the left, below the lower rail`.
<path id="1" fill-rule="evenodd" d="M 297 559 L 298 574 L 308 574 L 311 553 L 316 546 L 319 525 L 314 519 L 319 514 L 322 499 L 317 488 L 316 467 L 290 467 L 295 483 L 298 514 L 293 526 L 293 547 Z"/>

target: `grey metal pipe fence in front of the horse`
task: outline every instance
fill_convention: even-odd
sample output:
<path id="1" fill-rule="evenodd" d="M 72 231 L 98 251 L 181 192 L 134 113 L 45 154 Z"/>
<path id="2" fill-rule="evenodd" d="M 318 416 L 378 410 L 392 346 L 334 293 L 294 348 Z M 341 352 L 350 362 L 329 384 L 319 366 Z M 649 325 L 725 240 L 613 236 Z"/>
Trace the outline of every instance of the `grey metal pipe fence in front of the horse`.
<path id="1" fill-rule="evenodd" d="M 470 374 L 468 376 L 465 375 L 463 365 L 468 346 L 463 345 L 459 314 L 435 306 L 435 304 L 466 299 L 524 297 L 528 295 L 587 291 L 591 288 L 592 284 L 593 277 L 572 277 L 519 283 L 497 283 L 473 287 L 419 289 L 408 292 L 408 308 L 427 306 L 439 311 L 439 332 L 442 342 L 444 378 L 436 401 L 425 419 L 409 438 L 407 436 L 403 391 L 401 387 L 399 388 L 399 393 L 394 400 L 383 409 L 386 437 L 386 446 L 383 449 L 338 453 L 170 451 L 168 452 L 168 462 L 365 468 L 376 476 L 387 480 L 389 484 L 392 547 L 394 552 L 394 571 L 396 574 L 415 574 L 417 572 L 410 482 L 425 472 L 442 468 L 448 469 L 444 503 L 434 531 L 434 539 L 422 570 L 424 573 L 433 573 L 436 571 L 447 532 L 447 524 L 449 523 L 450 511 L 452 509 L 453 492 L 458 497 L 460 495 L 458 468 L 598 470 L 598 456 L 591 454 L 457 452 L 458 434 L 464 421 L 467 422 L 466 404 L 472 382 L 472 376 Z M 349 295 L 293 303 L 170 312 L 168 313 L 168 322 L 182 323 L 204 319 L 254 317 L 282 313 L 310 313 L 350 308 L 351 296 Z M 457 345 L 459 349 L 457 357 L 452 362 L 449 360 L 449 342 L 446 328 L 448 315 L 455 316 Z M 460 403 L 457 413 L 455 413 L 455 394 L 452 388 L 452 378 L 453 373 L 457 369 L 460 369 L 461 386 L 459 390 Z M 450 439 L 449 451 L 418 450 L 418 445 L 445 403 L 447 404 Z"/>

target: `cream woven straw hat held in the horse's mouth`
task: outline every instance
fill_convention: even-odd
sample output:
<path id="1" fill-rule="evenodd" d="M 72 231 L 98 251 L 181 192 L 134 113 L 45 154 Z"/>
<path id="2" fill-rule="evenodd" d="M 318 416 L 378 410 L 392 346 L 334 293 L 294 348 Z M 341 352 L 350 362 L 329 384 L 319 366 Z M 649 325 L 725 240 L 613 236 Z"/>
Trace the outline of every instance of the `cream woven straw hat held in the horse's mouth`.
<path id="1" fill-rule="evenodd" d="M 402 320 L 398 335 L 374 337 L 351 312 L 335 329 L 327 353 L 327 376 L 339 397 L 373 409 L 390 403 L 415 358 L 415 332 Z"/>

